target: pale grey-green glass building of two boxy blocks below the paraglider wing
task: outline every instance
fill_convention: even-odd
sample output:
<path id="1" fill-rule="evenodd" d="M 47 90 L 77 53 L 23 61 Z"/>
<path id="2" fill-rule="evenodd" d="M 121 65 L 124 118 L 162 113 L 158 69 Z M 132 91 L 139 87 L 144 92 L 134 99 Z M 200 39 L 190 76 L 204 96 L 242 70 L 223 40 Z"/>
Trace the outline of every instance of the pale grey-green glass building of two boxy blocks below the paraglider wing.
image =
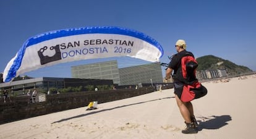
<path id="1" fill-rule="evenodd" d="M 161 65 L 156 63 L 118 69 L 117 61 L 71 67 L 72 78 L 110 79 L 117 85 L 163 83 Z"/>

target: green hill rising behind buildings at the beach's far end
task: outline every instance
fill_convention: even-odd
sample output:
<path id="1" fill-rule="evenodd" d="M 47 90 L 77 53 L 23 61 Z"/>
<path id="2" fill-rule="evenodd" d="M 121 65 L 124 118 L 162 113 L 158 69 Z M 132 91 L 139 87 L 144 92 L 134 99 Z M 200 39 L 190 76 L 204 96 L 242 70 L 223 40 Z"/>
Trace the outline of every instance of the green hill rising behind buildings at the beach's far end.
<path id="1" fill-rule="evenodd" d="M 243 65 L 236 65 L 231 61 L 221 59 L 213 55 L 202 56 L 197 58 L 198 68 L 197 70 L 214 70 L 214 69 L 226 69 L 228 75 L 244 74 L 252 72 L 251 69 Z"/>

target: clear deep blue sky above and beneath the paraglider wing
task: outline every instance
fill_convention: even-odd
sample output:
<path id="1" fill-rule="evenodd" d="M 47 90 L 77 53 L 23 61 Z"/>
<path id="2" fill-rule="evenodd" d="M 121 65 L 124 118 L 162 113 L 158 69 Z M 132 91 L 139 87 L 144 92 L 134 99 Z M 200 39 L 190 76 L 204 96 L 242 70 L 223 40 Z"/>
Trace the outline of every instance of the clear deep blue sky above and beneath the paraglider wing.
<path id="1" fill-rule="evenodd" d="M 91 26 L 126 27 L 151 36 L 164 49 L 161 62 L 168 63 L 168 56 L 176 53 L 174 44 L 184 39 L 196 57 L 211 54 L 256 70 L 255 7 L 254 0 L 0 0 L 0 72 L 28 38 Z M 25 75 L 71 77 L 71 66 L 114 59 L 69 62 Z M 127 67 L 148 62 L 122 57 L 117 63 Z"/>

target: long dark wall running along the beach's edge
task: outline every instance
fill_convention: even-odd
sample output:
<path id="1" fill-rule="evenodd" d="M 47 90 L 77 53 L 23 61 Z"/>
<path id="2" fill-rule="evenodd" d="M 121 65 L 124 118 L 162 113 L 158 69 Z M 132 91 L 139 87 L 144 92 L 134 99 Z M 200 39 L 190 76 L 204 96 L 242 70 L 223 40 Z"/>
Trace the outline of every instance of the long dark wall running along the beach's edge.
<path id="1" fill-rule="evenodd" d="M 92 101 L 106 103 L 133 96 L 139 96 L 153 92 L 152 87 L 143 87 L 135 89 L 118 89 L 106 91 L 85 91 L 79 93 L 61 93 L 54 95 L 46 95 L 46 101 L 30 103 L 27 96 L 11 98 L 12 102 L 7 99 L 3 103 L 0 101 L 0 124 L 12 122 L 15 120 L 26 119 L 29 117 L 41 116 L 52 112 L 74 109 L 77 107 L 85 107 Z"/>

